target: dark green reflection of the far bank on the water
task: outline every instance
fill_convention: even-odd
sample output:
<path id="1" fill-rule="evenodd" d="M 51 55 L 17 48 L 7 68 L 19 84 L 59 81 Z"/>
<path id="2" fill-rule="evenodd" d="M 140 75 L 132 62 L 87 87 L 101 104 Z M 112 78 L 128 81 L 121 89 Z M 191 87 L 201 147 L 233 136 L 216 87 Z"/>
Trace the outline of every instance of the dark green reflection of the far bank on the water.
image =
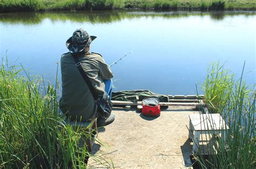
<path id="1" fill-rule="evenodd" d="M 23 12 L 23 13 L 0 13 L 0 21 L 3 23 L 16 24 L 38 24 L 44 19 L 55 21 L 72 22 L 90 22 L 90 23 L 112 23 L 123 19 L 133 19 L 141 17 L 163 17 L 163 18 L 180 18 L 188 16 L 210 16 L 215 20 L 222 20 L 225 17 L 242 15 L 245 17 L 256 15 L 253 11 L 172 11 L 172 12 L 154 12 L 154 11 L 62 11 L 62 12 Z"/>

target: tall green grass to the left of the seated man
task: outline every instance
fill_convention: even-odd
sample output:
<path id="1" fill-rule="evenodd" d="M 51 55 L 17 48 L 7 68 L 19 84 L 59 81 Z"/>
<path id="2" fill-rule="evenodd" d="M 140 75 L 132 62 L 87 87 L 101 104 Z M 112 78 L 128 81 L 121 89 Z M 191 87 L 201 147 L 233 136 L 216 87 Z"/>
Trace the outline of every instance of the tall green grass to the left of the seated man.
<path id="1" fill-rule="evenodd" d="M 0 168 L 85 168 L 89 153 L 78 143 L 87 133 L 63 125 L 57 85 L 7 63 L 0 67 Z"/>

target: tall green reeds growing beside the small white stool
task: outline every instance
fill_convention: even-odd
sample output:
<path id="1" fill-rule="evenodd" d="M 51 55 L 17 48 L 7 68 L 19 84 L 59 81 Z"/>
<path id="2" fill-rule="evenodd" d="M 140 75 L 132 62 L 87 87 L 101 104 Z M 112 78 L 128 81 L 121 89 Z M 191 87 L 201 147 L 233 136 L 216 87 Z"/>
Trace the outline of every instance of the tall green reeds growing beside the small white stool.
<path id="1" fill-rule="evenodd" d="M 201 168 L 255 168 L 255 93 L 254 87 L 242 80 L 243 72 L 244 68 L 235 80 L 235 75 L 219 64 L 208 70 L 203 85 L 208 116 L 220 113 L 230 129 L 222 131 L 221 137 L 212 134 L 203 150 L 211 155 L 209 159 L 204 159 L 203 151 L 194 155 Z"/>

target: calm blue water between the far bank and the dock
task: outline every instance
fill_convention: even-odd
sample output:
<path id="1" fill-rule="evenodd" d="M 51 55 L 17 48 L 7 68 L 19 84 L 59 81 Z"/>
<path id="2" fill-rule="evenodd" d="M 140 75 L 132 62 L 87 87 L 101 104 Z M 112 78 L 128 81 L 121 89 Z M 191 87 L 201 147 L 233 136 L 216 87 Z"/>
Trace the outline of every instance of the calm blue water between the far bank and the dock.
<path id="1" fill-rule="evenodd" d="M 91 51 L 112 67 L 115 90 L 149 89 L 195 94 L 212 61 L 255 84 L 256 12 L 46 12 L 0 13 L 0 56 L 30 74 L 55 81 L 65 41 L 83 27 L 98 38 Z M 60 72 L 58 78 L 60 80 Z M 202 93 L 200 91 L 200 93 Z"/>

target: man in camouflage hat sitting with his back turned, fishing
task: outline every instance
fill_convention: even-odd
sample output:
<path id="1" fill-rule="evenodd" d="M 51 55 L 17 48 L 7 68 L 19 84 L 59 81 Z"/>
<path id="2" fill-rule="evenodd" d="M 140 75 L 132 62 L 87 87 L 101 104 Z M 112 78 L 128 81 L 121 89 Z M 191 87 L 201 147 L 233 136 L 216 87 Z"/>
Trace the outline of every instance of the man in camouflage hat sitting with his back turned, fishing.
<path id="1" fill-rule="evenodd" d="M 72 121 L 88 121 L 97 118 L 98 126 L 104 126 L 114 121 L 114 115 L 109 118 L 98 117 L 97 105 L 89 87 L 76 67 L 72 55 L 78 58 L 81 66 L 89 77 L 98 97 L 104 91 L 111 98 L 113 73 L 100 54 L 89 52 L 90 44 L 95 36 L 78 29 L 66 41 L 70 52 L 64 53 L 60 59 L 62 72 L 62 97 L 59 101 L 60 110 Z"/>

